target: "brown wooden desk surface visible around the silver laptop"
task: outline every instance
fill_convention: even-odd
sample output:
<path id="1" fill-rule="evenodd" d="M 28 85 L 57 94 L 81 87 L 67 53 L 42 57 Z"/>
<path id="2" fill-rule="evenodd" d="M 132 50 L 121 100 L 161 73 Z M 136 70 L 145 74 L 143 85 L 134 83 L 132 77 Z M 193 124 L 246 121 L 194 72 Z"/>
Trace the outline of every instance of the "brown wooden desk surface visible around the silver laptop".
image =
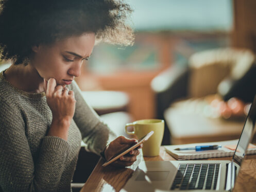
<path id="1" fill-rule="evenodd" d="M 143 158 L 144 161 L 175 161 L 161 147 L 160 155 L 152 158 Z M 132 176 L 133 171 L 143 159 L 137 160 L 130 168 L 102 167 L 103 159 L 100 159 L 91 176 L 84 184 L 80 192 L 85 191 L 120 191 Z M 231 160 L 231 157 L 210 158 L 208 160 Z M 233 191 L 254 191 L 256 188 L 256 155 L 248 155 L 243 162 L 241 172 L 237 178 Z"/>

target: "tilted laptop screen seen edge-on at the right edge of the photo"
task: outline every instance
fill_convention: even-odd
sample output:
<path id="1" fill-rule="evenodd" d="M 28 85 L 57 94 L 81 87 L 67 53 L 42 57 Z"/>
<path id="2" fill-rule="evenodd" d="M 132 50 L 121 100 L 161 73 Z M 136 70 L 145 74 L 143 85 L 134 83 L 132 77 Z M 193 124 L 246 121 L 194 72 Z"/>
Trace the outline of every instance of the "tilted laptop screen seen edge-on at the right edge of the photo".
<path id="1" fill-rule="evenodd" d="M 240 139 L 237 143 L 233 160 L 241 166 L 241 163 L 246 155 L 246 150 L 249 143 L 251 142 L 252 136 L 255 132 L 255 121 L 256 121 L 256 96 L 251 104 L 250 111 L 247 115 L 243 131 L 240 135 Z"/>

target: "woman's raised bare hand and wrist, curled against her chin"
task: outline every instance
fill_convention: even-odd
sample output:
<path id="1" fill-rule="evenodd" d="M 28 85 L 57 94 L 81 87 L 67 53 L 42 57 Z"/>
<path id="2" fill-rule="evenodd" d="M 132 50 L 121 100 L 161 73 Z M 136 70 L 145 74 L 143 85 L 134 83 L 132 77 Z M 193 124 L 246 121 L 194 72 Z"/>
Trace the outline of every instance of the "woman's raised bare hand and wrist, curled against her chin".
<path id="1" fill-rule="evenodd" d="M 48 82 L 44 79 L 44 91 L 47 104 L 53 113 L 53 121 L 48 135 L 59 136 L 66 140 L 75 113 L 74 92 L 63 89 L 62 85 L 57 85 L 54 78 L 50 78 Z"/>

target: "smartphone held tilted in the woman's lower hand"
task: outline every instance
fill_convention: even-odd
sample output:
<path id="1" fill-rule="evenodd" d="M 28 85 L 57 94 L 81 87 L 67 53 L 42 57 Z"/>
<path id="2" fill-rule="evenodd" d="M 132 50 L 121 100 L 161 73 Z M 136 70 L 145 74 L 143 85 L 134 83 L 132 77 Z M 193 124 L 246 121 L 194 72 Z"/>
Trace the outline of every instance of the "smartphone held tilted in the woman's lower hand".
<path id="1" fill-rule="evenodd" d="M 145 141 L 147 141 L 147 139 L 153 134 L 153 131 L 150 131 L 148 134 L 146 134 L 145 136 L 141 137 L 138 140 L 138 143 L 132 145 L 131 147 L 129 147 L 128 149 L 123 150 L 122 152 L 114 155 L 109 161 L 105 162 L 102 166 L 105 167 L 107 165 L 109 165 L 110 163 L 114 162 L 115 160 L 121 158 L 121 156 L 125 155 L 126 153 L 128 153 L 129 151 L 131 151 L 132 149 L 135 149 L 136 147 L 139 147 L 142 143 L 144 143 Z"/>

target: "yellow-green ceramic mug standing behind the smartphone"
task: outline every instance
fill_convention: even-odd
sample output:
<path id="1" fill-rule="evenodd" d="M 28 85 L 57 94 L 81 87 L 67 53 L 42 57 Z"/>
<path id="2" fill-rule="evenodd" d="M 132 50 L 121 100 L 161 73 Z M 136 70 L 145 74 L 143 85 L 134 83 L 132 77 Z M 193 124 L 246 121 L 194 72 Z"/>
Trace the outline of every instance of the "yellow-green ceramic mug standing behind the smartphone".
<path id="1" fill-rule="evenodd" d="M 133 127 L 133 131 L 128 131 L 128 127 Z M 145 136 L 150 131 L 153 135 L 143 143 L 143 156 L 157 156 L 164 135 L 164 120 L 162 119 L 143 119 L 126 124 L 125 131 L 129 135 L 136 135 L 138 138 Z"/>

